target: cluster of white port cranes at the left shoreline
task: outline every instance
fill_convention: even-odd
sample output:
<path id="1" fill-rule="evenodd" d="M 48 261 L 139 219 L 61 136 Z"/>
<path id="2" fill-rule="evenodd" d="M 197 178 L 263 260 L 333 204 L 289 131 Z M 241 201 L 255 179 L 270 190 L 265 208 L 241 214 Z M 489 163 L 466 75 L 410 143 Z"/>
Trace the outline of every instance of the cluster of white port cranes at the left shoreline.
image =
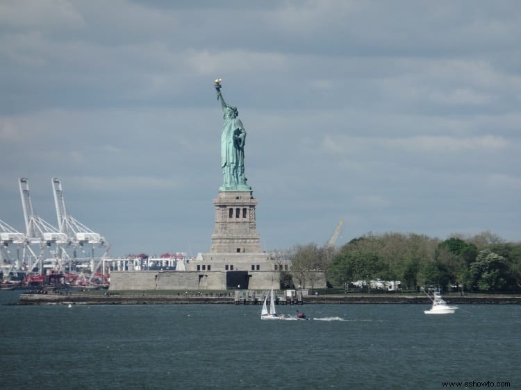
<path id="1" fill-rule="evenodd" d="M 19 178 L 25 232 L 0 221 L 3 285 L 75 284 L 92 281 L 97 258 L 94 246 L 104 246 L 104 237 L 67 214 L 60 178 L 51 180 L 58 228 L 36 214 L 27 178 Z M 83 246 L 91 246 L 85 253 Z M 11 252 L 16 247 L 16 255 Z M 78 251 L 79 249 L 79 251 Z M 84 257 L 78 257 L 78 252 Z M 106 255 L 106 253 L 105 253 Z M 85 276 L 83 275 L 85 273 Z M 88 276 L 87 276 L 88 275 Z"/>

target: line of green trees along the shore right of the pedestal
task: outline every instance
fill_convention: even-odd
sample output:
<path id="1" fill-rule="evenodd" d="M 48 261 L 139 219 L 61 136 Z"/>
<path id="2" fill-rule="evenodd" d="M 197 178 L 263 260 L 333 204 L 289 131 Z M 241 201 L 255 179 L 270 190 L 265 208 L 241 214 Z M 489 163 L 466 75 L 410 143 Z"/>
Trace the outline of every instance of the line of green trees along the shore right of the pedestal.
<path id="1" fill-rule="evenodd" d="M 518 292 L 521 242 L 506 242 L 491 232 L 440 240 L 426 235 L 371 232 L 340 248 L 296 245 L 284 254 L 300 278 L 326 272 L 331 287 L 356 280 L 400 281 L 403 289 L 439 287 L 443 291 Z"/>

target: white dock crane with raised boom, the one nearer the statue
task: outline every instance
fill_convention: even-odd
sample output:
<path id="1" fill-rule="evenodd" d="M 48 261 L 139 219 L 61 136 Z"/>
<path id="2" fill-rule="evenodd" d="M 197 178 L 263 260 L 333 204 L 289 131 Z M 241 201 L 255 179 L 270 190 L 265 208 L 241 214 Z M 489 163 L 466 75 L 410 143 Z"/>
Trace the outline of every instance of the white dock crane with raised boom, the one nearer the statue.
<path id="1" fill-rule="evenodd" d="M 58 230 L 60 233 L 67 235 L 69 243 L 74 246 L 74 257 L 76 257 L 76 249 L 90 244 L 90 260 L 94 266 L 94 246 L 104 246 L 105 238 L 99 233 L 93 232 L 83 223 L 74 219 L 72 215 L 67 214 L 65 207 L 65 197 L 63 196 L 62 181 L 60 178 L 51 180 L 53 186 L 54 203 L 56 205 L 56 218 L 58 219 Z M 94 272 L 94 271 L 92 271 Z"/>

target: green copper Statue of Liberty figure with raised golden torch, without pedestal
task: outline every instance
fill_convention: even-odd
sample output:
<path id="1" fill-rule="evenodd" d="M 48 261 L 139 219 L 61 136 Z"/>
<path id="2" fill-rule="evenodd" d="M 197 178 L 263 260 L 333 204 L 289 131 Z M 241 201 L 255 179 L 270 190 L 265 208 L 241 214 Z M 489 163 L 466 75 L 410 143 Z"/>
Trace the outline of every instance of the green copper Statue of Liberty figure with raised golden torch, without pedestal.
<path id="1" fill-rule="evenodd" d="M 224 124 L 221 135 L 221 167 L 222 187 L 221 191 L 249 191 L 245 177 L 245 144 L 246 130 L 242 121 L 238 119 L 239 112 L 236 107 L 227 105 L 221 94 L 221 79 L 217 78 L 213 85 L 217 91 L 217 100 L 221 101 L 224 113 Z"/>

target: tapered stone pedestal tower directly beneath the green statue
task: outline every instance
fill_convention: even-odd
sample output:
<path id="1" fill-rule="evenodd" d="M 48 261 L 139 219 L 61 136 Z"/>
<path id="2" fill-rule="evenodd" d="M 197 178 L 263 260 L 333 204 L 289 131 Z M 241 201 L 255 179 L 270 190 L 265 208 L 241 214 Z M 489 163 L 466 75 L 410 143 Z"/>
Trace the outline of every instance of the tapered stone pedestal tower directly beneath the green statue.
<path id="1" fill-rule="evenodd" d="M 213 204 L 215 229 L 210 253 L 261 253 L 253 191 L 220 191 Z"/>

